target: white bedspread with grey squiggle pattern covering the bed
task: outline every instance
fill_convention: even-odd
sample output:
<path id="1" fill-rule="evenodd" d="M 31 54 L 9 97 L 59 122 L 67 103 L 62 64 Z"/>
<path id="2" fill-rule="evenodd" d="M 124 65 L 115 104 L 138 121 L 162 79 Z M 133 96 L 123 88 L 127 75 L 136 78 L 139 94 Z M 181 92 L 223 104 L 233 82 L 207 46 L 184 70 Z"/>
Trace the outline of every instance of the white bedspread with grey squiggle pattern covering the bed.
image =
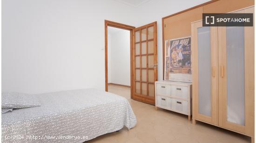
<path id="1" fill-rule="evenodd" d="M 128 100 L 97 89 L 36 94 L 41 106 L 2 114 L 2 143 L 82 143 L 136 117 Z"/>

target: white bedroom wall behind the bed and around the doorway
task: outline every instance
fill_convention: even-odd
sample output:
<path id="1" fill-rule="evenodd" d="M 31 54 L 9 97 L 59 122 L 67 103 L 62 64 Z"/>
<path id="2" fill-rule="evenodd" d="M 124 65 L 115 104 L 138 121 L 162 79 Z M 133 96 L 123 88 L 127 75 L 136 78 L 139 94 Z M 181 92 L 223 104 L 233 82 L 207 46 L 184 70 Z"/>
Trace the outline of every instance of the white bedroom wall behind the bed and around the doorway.
<path id="1" fill-rule="evenodd" d="M 208 0 L 2 0 L 2 91 L 44 93 L 105 88 L 104 19 L 158 25 L 162 79 L 163 16 Z"/>

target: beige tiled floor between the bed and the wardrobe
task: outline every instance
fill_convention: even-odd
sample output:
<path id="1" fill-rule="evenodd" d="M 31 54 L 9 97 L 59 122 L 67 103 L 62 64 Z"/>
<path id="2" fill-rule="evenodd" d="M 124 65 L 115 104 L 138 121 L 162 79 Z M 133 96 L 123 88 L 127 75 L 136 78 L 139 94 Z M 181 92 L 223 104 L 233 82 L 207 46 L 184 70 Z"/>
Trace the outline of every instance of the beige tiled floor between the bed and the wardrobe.
<path id="1" fill-rule="evenodd" d="M 197 122 L 185 115 L 155 110 L 155 106 L 130 99 L 130 88 L 111 85 L 109 92 L 127 98 L 137 118 L 136 126 L 96 137 L 88 143 L 250 143 L 250 137 Z"/>

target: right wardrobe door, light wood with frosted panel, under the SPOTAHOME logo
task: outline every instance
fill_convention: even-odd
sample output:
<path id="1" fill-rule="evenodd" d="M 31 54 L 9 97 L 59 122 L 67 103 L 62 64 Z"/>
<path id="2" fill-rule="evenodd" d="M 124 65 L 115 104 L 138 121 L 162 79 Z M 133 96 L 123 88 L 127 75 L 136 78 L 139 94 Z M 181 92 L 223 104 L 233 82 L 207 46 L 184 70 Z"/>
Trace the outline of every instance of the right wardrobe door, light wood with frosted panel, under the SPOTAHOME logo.
<path id="1" fill-rule="evenodd" d="M 218 43 L 219 125 L 254 136 L 254 26 L 218 27 Z"/>

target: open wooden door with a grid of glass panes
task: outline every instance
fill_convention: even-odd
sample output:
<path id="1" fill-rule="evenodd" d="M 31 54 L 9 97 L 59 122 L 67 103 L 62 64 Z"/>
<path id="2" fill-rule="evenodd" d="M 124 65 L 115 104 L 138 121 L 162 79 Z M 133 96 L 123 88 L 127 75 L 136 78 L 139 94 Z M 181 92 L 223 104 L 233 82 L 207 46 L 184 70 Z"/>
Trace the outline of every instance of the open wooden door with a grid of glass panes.
<path id="1" fill-rule="evenodd" d="M 156 22 L 133 30 L 133 99 L 155 105 L 157 81 Z"/>

